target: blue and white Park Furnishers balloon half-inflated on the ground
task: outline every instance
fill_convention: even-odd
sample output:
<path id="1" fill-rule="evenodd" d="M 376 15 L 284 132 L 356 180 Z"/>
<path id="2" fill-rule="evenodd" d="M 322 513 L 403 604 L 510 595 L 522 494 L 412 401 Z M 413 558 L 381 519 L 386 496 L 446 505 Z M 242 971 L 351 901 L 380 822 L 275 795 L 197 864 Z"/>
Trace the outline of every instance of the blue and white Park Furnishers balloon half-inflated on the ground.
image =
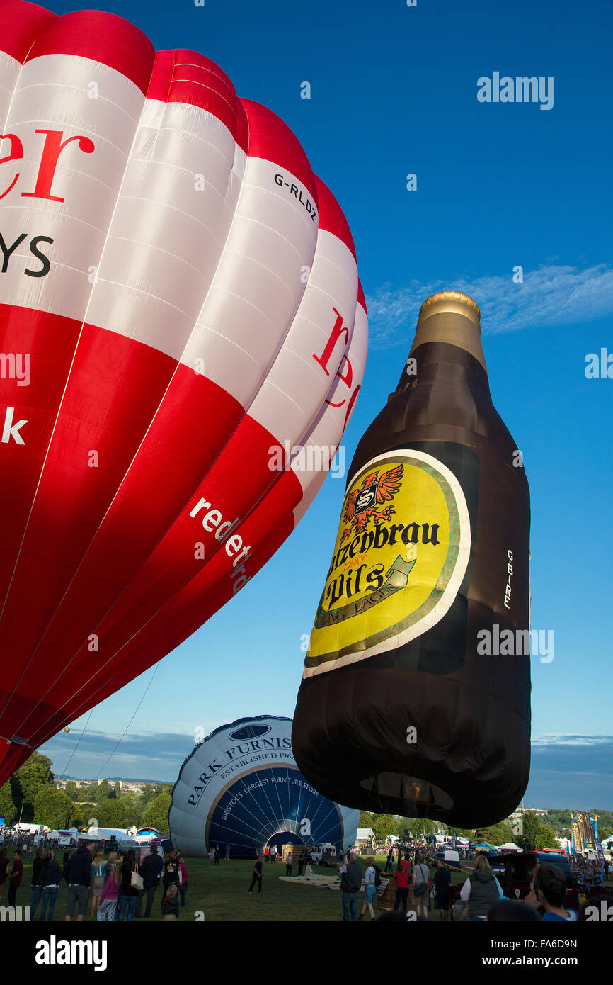
<path id="1" fill-rule="evenodd" d="M 304 778 L 291 751 L 291 719 L 239 718 L 188 755 L 172 791 L 170 837 L 186 855 L 230 846 L 255 858 L 273 844 L 353 846 L 359 811 L 339 807 Z"/>

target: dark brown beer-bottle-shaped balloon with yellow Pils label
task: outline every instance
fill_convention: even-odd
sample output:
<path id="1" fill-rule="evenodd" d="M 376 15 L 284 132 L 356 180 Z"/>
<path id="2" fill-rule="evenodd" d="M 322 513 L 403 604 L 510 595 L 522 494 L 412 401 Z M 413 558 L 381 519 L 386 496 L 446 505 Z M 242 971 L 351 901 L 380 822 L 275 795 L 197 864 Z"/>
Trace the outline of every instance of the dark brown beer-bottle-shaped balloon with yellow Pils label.
<path id="1" fill-rule="evenodd" d="M 479 308 L 440 292 L 349 469 L 293 719 L 320 793 L 460 827 L 515 810 L 529 771 L 528 542 Z"/>

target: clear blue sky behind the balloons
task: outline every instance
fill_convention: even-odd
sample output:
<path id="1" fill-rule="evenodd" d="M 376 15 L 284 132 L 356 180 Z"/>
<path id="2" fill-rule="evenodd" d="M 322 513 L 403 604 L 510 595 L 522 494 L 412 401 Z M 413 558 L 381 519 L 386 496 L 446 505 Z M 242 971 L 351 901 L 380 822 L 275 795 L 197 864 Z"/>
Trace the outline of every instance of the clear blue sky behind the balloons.
<path id="1" fill-rule="evenodd" d="M 50 6 L 64 13 L 84 5 Z M 396 387 L 421 301 L 450 287 L 480 304 L 492 396 L 531 489 L 532 626 L 553 630 L 555 639 L 551 663 L 532 658 L 534 758 L 525 803 L 613 808 L 613 379 L 584 376 L 586 354 L 613 353 L 613 6 L 104 6 L 157 48 L 194 47 L 213 58 L 240 96 L 286 121 L 335 192 L 370 316 L 364 385 L 344 439 L 347 465 Z M 495 71 L 553 77 L 553 108 L 477 101 L 477 79 Z M 304 81 L 311 99 L 300 99 Z M 408 173 L 417 175 L 416 191 L 406 190 Z M 522 284 L 513 282 L 518 265 Z M 174 780 L 199 726 L 290 716 L 301 637 L 311 629 L 343 488 L 329 477 L 266 569 L 158 665 L 132 722 L 153 670 L 94 709 L 76 752 L 88 716 L 47 743 L 55 769 L 63 771 L 74 752 L 68 772 L 95 775 L 129 726 L 103 775 Z"/>

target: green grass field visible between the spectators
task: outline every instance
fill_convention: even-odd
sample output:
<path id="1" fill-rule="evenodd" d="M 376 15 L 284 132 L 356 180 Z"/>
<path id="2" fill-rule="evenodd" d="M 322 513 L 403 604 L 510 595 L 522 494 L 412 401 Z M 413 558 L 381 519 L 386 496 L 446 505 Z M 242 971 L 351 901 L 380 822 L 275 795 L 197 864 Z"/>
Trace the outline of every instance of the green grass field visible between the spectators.
<path id="1" fill-rule="evenodd" d="M 10 853 L 11 854 L 11 853 Z M 280 862 L 267 863 L 263 869 L 262 892 L 257 889 L 248 892 L 253 872 L 253 862 L 224 859 L 212 866 L 209 859 L 186 859 L 189 875 L 189 885 L 186 893 L 186 905 L 181 907 L 179 920 L 193 922 L 197 919 L 205 921 L 337 921 L 342 917 L 341 896 L 336 889 L 322 886 L 309 886 L 299 883 L 285 883 L 278 877 L 285 875 L 285 866 Z M 383 870 L 385 859 L 378 858 L 377 864 Z M 470 863 L 466 863 L 470 865 Z M 362 862 L 362 869 L 366 866 Z M 10 870 L 9 870 L 10 871 Z M 315 875 L 333 876 L 334 869 L 313 867 Z M 297 866 L 293 869 L 297 873 Z M 431 870 L 434 873 L 434 870 Z M 463 882 L 468 874 L 453 872 L 452 881 Z M 17 891 L 17 905 L 27 906 L 31 896 L 31 862 L 24 859 L 24 878 Z M 2 902 L 7 903 L 8 888 L 5 887 Z M 55 904 L 54 921 L 63 921 L 66 910 L 68 888 L 64 882 Z M 361 912 L 364 900 L 363 892 L 358 895 L 358 914 Z M 161 889 L 158 889 L 153 902 L 152 920 L 161 921 L 160 913 Z M 145 912 L 145 905 L 143 905 Z M 375 912 L 376 909 L 375 909 Z M 197 914 L 198 917 L 197 917 Z M 430 917 L 439 920 L 438 911 L 432 909 Z M 34 920 L 40 918 L 40 904 L 34 914 Z M 367 915 L 364 917 L 367 920 Z M 88 912 L 85 922 L 91 921 Z M 141 921 L 136 920 L 135 923 Z M 147 923 L 143 918 L 143 922 Z"/>

